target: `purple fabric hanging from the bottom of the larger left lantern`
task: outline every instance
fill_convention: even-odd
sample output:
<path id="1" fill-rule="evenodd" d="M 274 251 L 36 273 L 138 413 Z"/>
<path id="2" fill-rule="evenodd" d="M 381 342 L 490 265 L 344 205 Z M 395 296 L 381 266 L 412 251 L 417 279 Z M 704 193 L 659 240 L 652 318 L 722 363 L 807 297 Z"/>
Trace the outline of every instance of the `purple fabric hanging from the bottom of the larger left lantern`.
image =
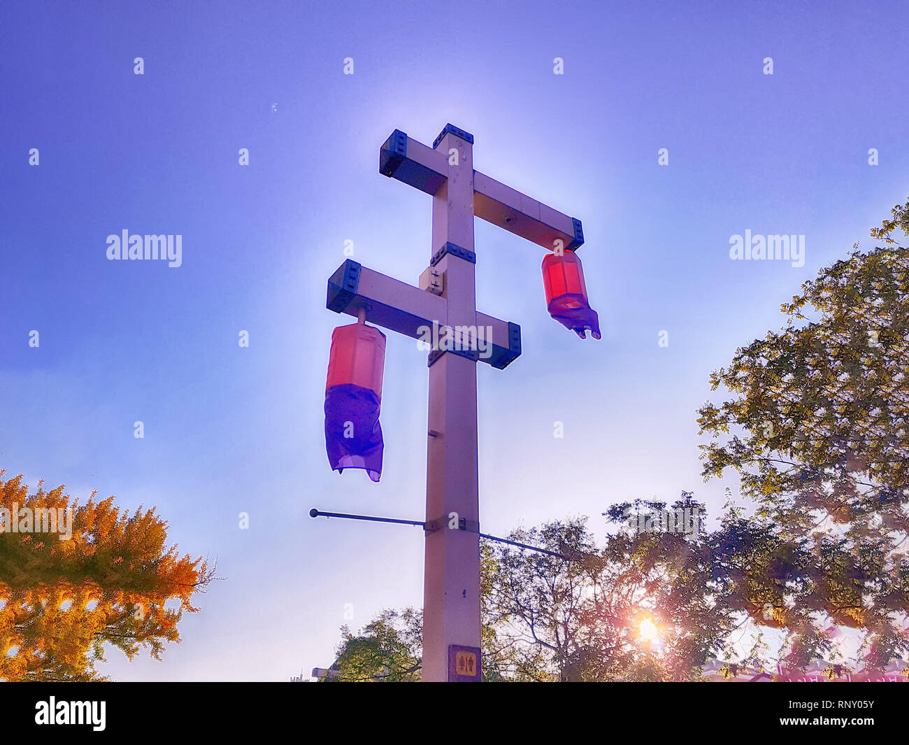
<path id="1" fill-rule="evenodd" d="M 364 468 L 369 478 L 382 475 L 381 401 L 375 391 L 345 383 L 325 391 L 325 450 L 332 469 Z"/>

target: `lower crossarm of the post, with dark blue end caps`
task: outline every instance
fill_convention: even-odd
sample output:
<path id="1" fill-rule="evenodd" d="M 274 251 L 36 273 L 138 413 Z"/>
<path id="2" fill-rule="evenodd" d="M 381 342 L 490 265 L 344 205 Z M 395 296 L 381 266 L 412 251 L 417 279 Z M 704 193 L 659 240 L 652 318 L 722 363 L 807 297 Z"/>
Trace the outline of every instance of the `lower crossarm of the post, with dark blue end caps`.
<path id="1" fill-rule="evenodd" d="M 517 324 L 477 313 L 474 329 L 454 327 L 448 331 L 448 303 L 444 297 L 367 269 L 353 259 L 347 259 L 328 279 L 325 307 L 353 317 L 364 308 L 368 323 L 430 343 L 446 336 L 456 338 L 455 354 L 498 369 L 521 354 L 521 327 Z M 482 331 L 478 330 L 480 327 Z M 482 349 L 477 350 L 480 353 L 464 351 L 461 342 L 471 337 L 482 338 Z M 447 351 L 444 345 L 441 348 L 444 351 L 436 349 L 430 353 L 430 364 Z"/>

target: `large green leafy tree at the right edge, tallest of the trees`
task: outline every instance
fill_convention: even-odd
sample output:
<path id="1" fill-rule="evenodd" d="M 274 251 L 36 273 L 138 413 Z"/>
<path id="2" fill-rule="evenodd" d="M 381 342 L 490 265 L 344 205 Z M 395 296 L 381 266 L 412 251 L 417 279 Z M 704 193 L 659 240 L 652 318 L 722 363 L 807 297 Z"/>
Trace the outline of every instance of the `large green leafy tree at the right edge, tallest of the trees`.
<path id="1" fill-rule="evenodd" d="M 827 659 L 858 629 L 855 667 L 909 651 L 909 203 L 873 229 L 883 247 L 820 271 L 785 327 L 711 376 L 699 410 L 704 477 L 732 468 L 755 514 L 727 521 L 730 609 L 782 629 L 784 668 Z M 718 545 L 717 550 L 724 550 Z"/>

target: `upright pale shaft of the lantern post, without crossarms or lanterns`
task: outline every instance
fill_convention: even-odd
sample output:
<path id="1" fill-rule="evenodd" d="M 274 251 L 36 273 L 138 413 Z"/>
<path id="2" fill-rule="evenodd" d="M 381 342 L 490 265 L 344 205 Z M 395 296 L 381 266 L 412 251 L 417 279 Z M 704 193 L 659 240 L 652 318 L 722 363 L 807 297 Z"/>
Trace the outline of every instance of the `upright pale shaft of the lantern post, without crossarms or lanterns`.
<path id="1" fill-rule="evenodd" d="M 435 149 L 448 158 L 449 171 L 433 197 L 432 256 L 451 245 L 472 256 L 473 138 L 445 131 Z M 447 324 L 474 327 L 475 265 L 459 253 L 448 251 L 436 264 L 445 272 Z M 451 645 L 480 647 L 479 536 L 449 528 L 452 520 L 472 526 L 480 518 L 475 361 L 448 352 L 429 367 L 428 425 L 426 521 L 440 520 L 441 527 L 426 532 L 423 680 L 440 681 L 448 680 Z"/>

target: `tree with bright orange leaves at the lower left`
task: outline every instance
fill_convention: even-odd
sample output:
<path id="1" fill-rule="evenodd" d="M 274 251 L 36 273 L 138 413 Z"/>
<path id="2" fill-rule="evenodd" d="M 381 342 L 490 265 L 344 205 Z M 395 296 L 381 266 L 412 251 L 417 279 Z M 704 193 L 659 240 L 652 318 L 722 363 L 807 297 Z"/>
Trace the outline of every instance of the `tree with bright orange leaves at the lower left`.
<path id="1" fill-rule="evenodd" d="M 155 509 L 133 515 L 114 498 L 85 504 L 60 486 L 28 494 L 0 470 L 0 680 L 105 680 L 105 643 L 161 659 L 214 567 L 176 546 Z M 59 517 L 51 520 L 48 516 Z M 67 523 L 68 518 L 68 523 Z M 65 529 L 64 529 L 64 526 Z M 68 534 L 68 535 L 67 535 Z"/>

